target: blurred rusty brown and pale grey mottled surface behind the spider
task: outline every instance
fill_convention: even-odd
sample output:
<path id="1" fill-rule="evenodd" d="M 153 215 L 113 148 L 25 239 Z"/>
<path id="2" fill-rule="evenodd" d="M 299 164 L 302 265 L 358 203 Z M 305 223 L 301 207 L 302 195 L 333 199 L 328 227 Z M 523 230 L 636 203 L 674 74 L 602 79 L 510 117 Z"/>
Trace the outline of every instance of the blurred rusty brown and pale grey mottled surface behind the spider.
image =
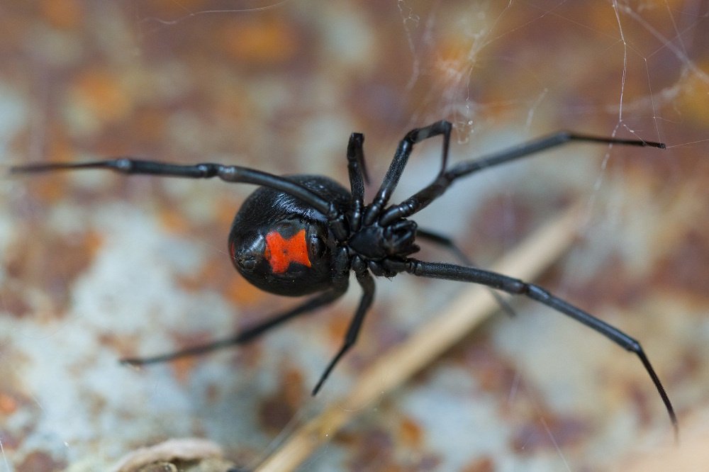
<path id="1" fill-rule="evenodd" d="M 709 411 L 707 30 L 702 0 L 5 2 L 0 163 L 131 155 L 345 183 L 358 131 L 371 196 L 398 140 L 442 118 L 453 162 L 559 129 L 666 142 L 569 145 L 490 169 L 416 220 L 485 267 L 583 202 L 576 244 L 538 282 L 639 339 L 692 425 Z M 440 140 L 418 146 L 394 200 L 439 164 Z M 252 190 L 109 172 L 0 181 L 1 471 L 106 470 L 191 436 L 254 466 L 462 288 L 381 279 L 357 346 L 314 399 L 356 284 L 247 347 L 119 366 L 296 303 L 228 260 Z M 674 448 L 635 356 L 552 310 L 514 307 L 303 470 L 627 470 Z"/>

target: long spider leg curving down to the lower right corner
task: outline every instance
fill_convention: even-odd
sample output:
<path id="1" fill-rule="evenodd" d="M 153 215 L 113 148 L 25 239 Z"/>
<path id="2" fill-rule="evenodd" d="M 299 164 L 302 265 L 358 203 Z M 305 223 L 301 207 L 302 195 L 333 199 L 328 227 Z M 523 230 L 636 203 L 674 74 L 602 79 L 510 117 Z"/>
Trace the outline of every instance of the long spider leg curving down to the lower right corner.
<path id="1" fill-rule="evenodd" d="M 445 264 L 442 262 L 422 262 L 416 259 L 408 259 L 407 262 L 402 264 L 404 265 L 401 267 L 402 271 L 406 271 L 415 276 L 479 283 L 481 285 L 496 288 L 497 290 L 512 293 L 514 295 L 526 296 L 532 300 L 536 300 L 537 302 L 547 305 L 549 308 L 557 310 L 559 313 L 562 313 L 569 318 L 573 318 L 574 320 L 583 323 L 592 330 L 615 342 L 618 346 L 623 347 L 623 349 L 635 353 L 635 355 L 640 358 L 640 361 L 642 362 L 645 371 L 647 371 L 652 379 L 652 383 L 654 383 L 655 388 L 657 388 L 657 392 L 665 405 L 672 422 L 672 426 L 674 427 L 675 437 L 678 436 L 679 429 L 677 426 L 677 416 L 675 415 L 672 403 L 670 402 L 669 397 L 667 396 L 667 393 L 665 392 L 664 387 L 657 376 L 657 373 L 655 373 L 652 368 L 652 364 L 650 364 L 649 359 L 647 359 L 645 352 L 640 346 L 640 342 L 637 342 L 637 340 L 626 335 L 623 331 L 618 330 L 618 328 L 613 327 L 602 320 L 599 320 L 595 316 L 590 313 L 586 313 L 580 308 L 576 308 L 574 305 L 571 305 L 571 303 L 552 295 L 552 293 L 549 293 L 544 288 L 533 283 L 527 283 L 519 279 L 514 279 L 513 277 L 497 274 L 496 272 L 475 269 L 474 267 L 458 266 L 455 264 Z"/>

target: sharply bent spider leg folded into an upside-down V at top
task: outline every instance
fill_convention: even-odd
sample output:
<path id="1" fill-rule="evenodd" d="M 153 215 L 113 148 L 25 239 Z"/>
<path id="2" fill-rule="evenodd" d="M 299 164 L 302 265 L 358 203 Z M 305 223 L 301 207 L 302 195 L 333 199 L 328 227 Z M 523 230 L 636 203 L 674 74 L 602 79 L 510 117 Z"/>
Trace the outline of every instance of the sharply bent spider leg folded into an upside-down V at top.
<path id="1" fill-rule="evenodd" d="M 443 150 L 441 154 L 442 166 L 441 173 L 445 170 L 448 162 L 448 147 L 450 145 L 450 131 L 452 125 L 445 121 L 437 121 L 431 125 L 424 126 L 423 128 L 414 128 L 413 130 L 406 133 L 403 140 L 399 142 L 396 152 L 394 153 L 393 159 L 391 159 L 391 164 L 389 164 L 389 170 L 386 171 L 384 176 L 384 181 L 381 182 L 379 191 L 377 191 L 372 205 L 364 214 L 364 224 L 371 225 L 374 220 L 379 216 L 386 203 L 389 202 L 391 198 L 391 193 L 396 189 L 401 174 L 403 173 L 404 167 L 406 167 L 406 162 L 408 162 L 408 157 L 411 155 L 413 150 L 413 145 L 421 142 L 429 137 L 434 137 L 437 135 L 443 135 Z"/>

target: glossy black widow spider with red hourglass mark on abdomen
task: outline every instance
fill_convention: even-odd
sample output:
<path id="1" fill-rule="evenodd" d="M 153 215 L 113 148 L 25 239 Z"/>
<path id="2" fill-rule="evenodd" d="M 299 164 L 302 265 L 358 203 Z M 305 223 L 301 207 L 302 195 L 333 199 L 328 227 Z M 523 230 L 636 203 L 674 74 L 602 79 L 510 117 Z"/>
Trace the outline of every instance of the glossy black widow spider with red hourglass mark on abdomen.
<path id="1" fill-rule="evenodd" d="M 285 296 L 311 293 L 318 295 L 233 337 L 171 354 L 123 359 L 125 364 L 167 361 L 179 356 L 201 354 L 249 342 L 286 320 L 309 313 L 340 298 L 347 291 L 352 270 L 362 287 L 362 299 L 350 322 L 345 342 L 313 389 L 315 395 L 337 361 L 357 340 L 364 316 L 374 299 L 373 276 L 393 277 L 406 272 L 415 276 L 479 283 L 499 291 L 527 296 L 574 318 L 620 347 L 635 353 L 657 388 L 676 433 L 677 418 L 674 408 L 640 342 L 533 283 L 476 269 L 469 266 L 470 264 L 461 266 L 444 262 L 423 262 L 409 257 L 419 249 L 415 244 L 416 237 L 459 253 L 452 240 L 436 232 L 420 230 L 415 221 L 408 218 L 432 203 L 461 177 L 568 142 L 596 142 L 661 149 L 664 149 L 664 144 L 562 131 L 448 168 L 451 129 L 451 123 L 441 120 L 409 131 L 399 142 L 384 181 L 369 205 L 364 204 L 364 181 L 367 180 L 367 171 L 362 150 L 364 135 L 361 133 L 352 133 L 347 145 L 350 191 L 328 177 L 319 175 L 275 176 L 247 167 L 211 163 L 167 164 L 130 157 L 68 164 L 29 164 L 11 167 L 10 172 L 30 174 L 73 169 L 111 169 L 123 174 L 153 174 L 193 179 L 216 176 L 228 182 L 259 186 L 243 203 L 231 225 L 229 253 L 234 266 L 247 281 L 264 291 Z M 389 198 L 406 167 L 413 146 L 437 135 L 442 135 L 443 138 L 442 162 L 437 176 L 424 189 L 402 203 L 390 206 Z"/>

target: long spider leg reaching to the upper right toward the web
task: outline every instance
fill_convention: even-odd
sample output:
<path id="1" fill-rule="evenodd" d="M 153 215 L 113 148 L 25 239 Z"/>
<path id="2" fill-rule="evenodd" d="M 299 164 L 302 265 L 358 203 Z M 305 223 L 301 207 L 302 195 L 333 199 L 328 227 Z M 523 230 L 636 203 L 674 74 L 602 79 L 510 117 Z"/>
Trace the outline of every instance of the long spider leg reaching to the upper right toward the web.
<path id="1" fill-rule="evenodd" d="M 561 131 L 553 135 L 541 137 L 537 140 L 525 142 L 515 147 L 510 147 L 506 150 L 494 152 L 492 154 L 481 157 L 480 159 L 460 162 L 448 170 L 440 172 L 436 179 L 418 191 L 413 196 L 407 198 L 398 205 L 388 208 L 379 219 L 381 225 L 388 225 L 398 218 L 408 218 L 414 213 L 428 206 L 436 198 L 440 197 L 457 179 L 478 172 L 482 169 L 495 167 L 499 164 L 520 159 L 522 157 L 531 156 L 537 152 L 542 152 L 553 147 L 565 145 L 569 142 L 596 142 L 606 145 L 624 145 L 624 146 L 644 146 L 657 147 L 664 149 L 665 145 L 661 142 L 643 141 L 643 140 L 625 140 L 615 137 L 598 137 L 589 135 L 579 135 Z"/>

